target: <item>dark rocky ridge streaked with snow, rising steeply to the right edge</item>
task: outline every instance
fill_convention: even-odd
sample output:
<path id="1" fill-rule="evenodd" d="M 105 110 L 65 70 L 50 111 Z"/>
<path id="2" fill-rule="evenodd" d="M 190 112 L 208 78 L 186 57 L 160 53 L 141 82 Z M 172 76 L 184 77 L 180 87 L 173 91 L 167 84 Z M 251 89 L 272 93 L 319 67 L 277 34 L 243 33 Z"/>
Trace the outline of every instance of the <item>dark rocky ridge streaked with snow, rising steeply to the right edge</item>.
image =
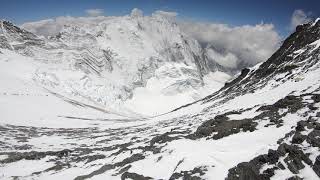
<path id="1" fill-rule="evenodd" d="M 226 83 L 221 91 L 204 98 L 203 101 L 209 102 L 221 97 L 229 100 L 241 94 L 253 93 L 266 86 L 279 74 L 285 74 L 285 76 L 277 78 L 278 82 L 303 76 L 303 71 L 319 61 L 320 49 L 314 49 L 316 45 L 311 45 L 319 38 L 320 21 L 297 26 L 296 32 L 291 34 L 282 46 L 257 69 L 243 69 L 241 74 L 233 81 Z M 306 59 L 308 59 L 307 62 Z M 301 71 L 293 73 L 295 69 Z"/>

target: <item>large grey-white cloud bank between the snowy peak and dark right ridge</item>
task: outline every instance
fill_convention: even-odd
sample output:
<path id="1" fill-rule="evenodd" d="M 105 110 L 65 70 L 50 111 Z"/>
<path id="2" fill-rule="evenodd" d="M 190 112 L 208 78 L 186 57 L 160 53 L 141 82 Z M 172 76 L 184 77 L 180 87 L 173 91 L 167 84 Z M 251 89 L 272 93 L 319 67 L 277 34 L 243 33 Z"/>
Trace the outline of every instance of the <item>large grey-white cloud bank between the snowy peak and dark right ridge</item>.
<path id="1" fill-rule="evenodd" d="M 279 47 L 281 40 L 272 24 L 230 27 L 226 24 L 184 21 L 180 26 L 202 47 L 211 47 L 209 55 L 218 64 L 233 69 L 266 61 Z"/>

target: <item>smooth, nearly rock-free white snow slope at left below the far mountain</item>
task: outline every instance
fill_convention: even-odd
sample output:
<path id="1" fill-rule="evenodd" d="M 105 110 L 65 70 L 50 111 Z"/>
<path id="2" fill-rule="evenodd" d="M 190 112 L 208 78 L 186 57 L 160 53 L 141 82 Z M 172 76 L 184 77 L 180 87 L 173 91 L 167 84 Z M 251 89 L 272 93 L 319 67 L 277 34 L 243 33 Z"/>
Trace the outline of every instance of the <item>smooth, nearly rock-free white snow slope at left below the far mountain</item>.
<path id="1" fill-rule="evenodd" d="M 70 99 L 53 93 L 33 81 L 33 73 L 42 63 L 12 51 L 0 54 L 1 123 L 32 125 L 35 127 L 88 127 L 91 122 L 75 121 L 68 116 L 106 119 L 123 118 L 84 104 L 70 103 Z"/>

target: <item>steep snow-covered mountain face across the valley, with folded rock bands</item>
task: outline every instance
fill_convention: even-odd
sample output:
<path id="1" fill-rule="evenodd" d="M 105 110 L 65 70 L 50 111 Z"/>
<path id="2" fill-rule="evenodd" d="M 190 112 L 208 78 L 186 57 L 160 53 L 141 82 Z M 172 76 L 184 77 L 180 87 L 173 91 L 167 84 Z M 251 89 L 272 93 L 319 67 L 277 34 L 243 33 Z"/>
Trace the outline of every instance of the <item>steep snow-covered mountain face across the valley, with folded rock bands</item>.
<path id="1" fill-rule="evenodd" d="M 3 33 L 4 40 L 1 42 L 9 49 L 44 64 L 34 72 L 33 79 L 39 85 L 118 112 L 135 111 L 150 115 L 158 109 L 158 113 L 164 113 L 208 95 L 196 94 L 198 90 L 206 91 L 201 88 L 214 86 L 217 90 L 229 79 L 224 74 L 223 78 L 218 79 L 219 83 L 204 82 L 204 79 L 212 77 L 209 72 L 215 72 L 217 68 L 208 66 L 198 42 L 180 30 L 172 13 L 157 11 L 152 16 L 143 16 L 142 12 L 134 9 L 129 16 L 91 20 L 71 18 L 68 24 L 53 24 L 52 28 L 59 31 L 48 38 L 39 38 L 11 24 L 2 29 L 10 31 L 14 37 L 30 36 L 33 42 L 41 43 L 29 45 L 26 38 L 11 38 L 8 33 Z M 38 27 L 41 23 L 48 22 L 28 23 L 24 27 L 35 31 L 32 27 Z M 15 46 L 16 39 L 23 46 Z M 171 72 L 160 72 L 161 68 L 166 67 L 178 71 L 179 75 L 172 78 Z M 172 106 L 153 105 L 153 111 L 144 112 L 144 106 L 154 99 L 151 95 L 142 99 L 139 90 L 136 93 L 133 91 L 145 86 L 149 86 L 147 89 L 153 86 L 156 92 L 159 91 L 153 93 L 153 97 L 163 97 L 163 100 L 172 102 Z M 140 106 L 133 103 L 137 99 L 143 101 Z M 124 101 L 130 105 L 123 106 Z"/>

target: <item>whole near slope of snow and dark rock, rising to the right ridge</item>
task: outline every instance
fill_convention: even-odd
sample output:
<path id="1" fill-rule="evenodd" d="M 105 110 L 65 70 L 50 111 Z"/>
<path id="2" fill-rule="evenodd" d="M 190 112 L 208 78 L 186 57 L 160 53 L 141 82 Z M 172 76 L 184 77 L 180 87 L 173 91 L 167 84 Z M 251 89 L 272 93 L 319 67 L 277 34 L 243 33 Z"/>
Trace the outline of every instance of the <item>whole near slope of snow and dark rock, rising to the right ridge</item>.
<path id="1" fill-rule="evenodd" d="M 320 21 L 300 25 L 264 63 L 153 118 L 110 115 L 3 69 L 1 108 L 16 109 L 0 121 L 0 178 L 319 179 L 319 47 Z M 30 60 L 1 52 L 1 67 Z"/>

